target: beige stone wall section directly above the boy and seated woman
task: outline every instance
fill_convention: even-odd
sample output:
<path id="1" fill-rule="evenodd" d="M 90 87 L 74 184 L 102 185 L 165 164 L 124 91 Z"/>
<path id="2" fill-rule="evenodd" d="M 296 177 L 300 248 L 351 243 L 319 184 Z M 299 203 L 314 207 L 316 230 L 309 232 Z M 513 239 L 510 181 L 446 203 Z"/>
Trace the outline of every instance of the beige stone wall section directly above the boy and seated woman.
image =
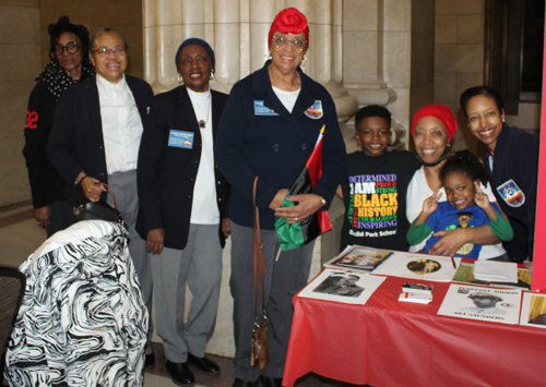
<path id="1" fill-rule="evenodd" d="M 345 0 L 343 7 L 344 86 L 359 107 L 387 106 L 394 146 L 407 148 L 413 113 L 432 101 L 434 0 Z M 348 143 L 349 149 L 357 147 Z"/>

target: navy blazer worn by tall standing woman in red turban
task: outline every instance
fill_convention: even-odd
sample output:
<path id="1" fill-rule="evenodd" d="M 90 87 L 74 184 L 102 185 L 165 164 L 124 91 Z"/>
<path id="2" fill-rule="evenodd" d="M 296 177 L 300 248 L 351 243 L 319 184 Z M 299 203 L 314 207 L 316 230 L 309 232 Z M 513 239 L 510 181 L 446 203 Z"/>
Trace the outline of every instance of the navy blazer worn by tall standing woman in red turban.
<path id="1" fill-rule="evenodd" d="M 252 188 L 259 176 L 257 205 L 263 229 L 274 229 L 269 205 L 289 189 L 311 155 L 325 124 L 322 177 L 313 193 L 331 203 L 345 169 L 346 150 L 335 105 L 328 90 L 301 69 L 301 90 L 292 113 L 271 86 L 265 65 L 237 82 L 222 116 L 216 159 L 233 186 L 229 219 L 252 227 Z"/>

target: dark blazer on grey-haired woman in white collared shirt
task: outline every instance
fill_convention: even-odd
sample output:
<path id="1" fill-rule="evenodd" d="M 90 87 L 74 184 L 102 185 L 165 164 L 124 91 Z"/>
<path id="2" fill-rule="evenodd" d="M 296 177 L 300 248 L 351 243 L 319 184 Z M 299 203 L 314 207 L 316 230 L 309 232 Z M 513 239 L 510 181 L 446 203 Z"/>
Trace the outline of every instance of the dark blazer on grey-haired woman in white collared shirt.
<path id="1" fill-rule="evenodd" d="M 145 126 L 147 110 L 154 93 L 140 78 L 126 74 L 142 124 Z M 75 179 L 81 171 L 108 183 L 106 156 L 104 152 L 103 123 L 96 77 L 72 86 L 66 90 L 55 111 L 54 128 L 47 145 L 51 164 L 67 181 L 64 196 L 73 205 L 87 202 Z M 107 193 L 103 194 L 106 201 Z"/>

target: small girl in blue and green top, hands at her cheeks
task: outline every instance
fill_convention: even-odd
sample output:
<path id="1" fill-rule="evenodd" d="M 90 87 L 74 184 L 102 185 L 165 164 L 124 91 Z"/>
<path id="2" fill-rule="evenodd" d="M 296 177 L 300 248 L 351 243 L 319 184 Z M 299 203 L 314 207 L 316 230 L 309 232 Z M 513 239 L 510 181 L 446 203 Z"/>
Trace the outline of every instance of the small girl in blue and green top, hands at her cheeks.
<path id="1" fill-rule="evenodd" d="M 410 244 L 420 243 L 430 232 L 484 225 L 489 225 L 501 241 L 512 240 L 512 227 L 500 215 L 499 207 L 489 203 L 487 195 L 479 189 L 479 181 L 487 186 L 487 177 L 476 156 L 468 150 L 458 152 L 448 159 L 440 171 L 440 178 L 447 202 L 438 203 L 441 193 L 437 190 L 423 203 L 423 210 L 407 233 Z M 428 253 L 439 239 L 440 237 L 430 237 L 420 253 Z M 477 259 L 480 250 L 480 244 L 466 243 L 459 249 L 455 256 Z"/>

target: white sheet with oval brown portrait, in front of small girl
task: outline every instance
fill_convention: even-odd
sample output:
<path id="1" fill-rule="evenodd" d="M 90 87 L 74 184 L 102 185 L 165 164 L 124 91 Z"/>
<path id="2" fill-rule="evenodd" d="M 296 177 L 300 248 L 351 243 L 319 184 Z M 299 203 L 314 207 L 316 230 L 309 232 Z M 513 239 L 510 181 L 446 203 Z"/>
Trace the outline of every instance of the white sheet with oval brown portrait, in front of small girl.
<path id="1" fill-rule="evenodd" d="M 455 274 L 450 257 L 394 252 L 373 274 L 449 282 Z"/>

